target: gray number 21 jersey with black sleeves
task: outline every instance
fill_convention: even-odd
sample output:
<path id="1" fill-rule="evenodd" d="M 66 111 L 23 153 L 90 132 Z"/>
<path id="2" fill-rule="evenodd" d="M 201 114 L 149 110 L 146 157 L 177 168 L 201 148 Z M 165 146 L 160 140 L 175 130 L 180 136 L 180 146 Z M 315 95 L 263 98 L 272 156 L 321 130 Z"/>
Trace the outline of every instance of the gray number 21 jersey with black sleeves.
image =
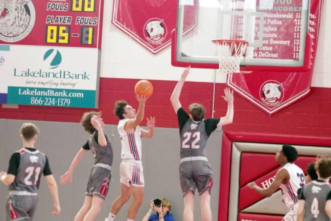
<path id="1" fill-rule="evenodd" d="M 14 182 L 9 186 L 10 191 L 29 193 L 37 193 L 41 173 L 52 174 L 46 156 L 34 148 L 15 152 L 9 161 L 8 173 L 15 175 Z"/>

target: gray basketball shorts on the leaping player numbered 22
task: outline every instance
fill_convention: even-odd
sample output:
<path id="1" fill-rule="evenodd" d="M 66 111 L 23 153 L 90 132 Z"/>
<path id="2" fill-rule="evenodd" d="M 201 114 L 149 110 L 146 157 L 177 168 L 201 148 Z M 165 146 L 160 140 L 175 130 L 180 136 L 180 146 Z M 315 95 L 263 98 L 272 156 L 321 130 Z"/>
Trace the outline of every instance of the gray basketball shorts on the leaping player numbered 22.
<path id="1" fill-rule="evenodd" d="M 186 161 L 179 165 L 179 180 L 183 195 L 188 191 L 195 192 L 198 189 L 199 195 L 212 187 L 212 170 L 207 161 Z"/>

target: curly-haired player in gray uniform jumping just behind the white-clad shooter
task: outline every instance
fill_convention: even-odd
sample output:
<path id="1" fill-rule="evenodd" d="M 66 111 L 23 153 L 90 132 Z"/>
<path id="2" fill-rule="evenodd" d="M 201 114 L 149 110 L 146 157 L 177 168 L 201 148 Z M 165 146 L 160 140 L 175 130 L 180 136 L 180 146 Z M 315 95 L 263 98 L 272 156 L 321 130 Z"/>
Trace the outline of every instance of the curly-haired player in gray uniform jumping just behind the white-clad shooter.
<path id="1" fill-rule="evenodd" d="M 67 182 L 72 182 L 72 174 L 82 156 L 91 150 L 94 165 L 88 178 L 84 204 L 74 219 L 74 221 L 90 221 L 97 217 L 108 193 L 113 151 L 111 143 L 103 131 L 105 124 L 101 118 L 101 112 L 84 113 L 81 123 L 90 136 L 76 154 L 68 171 L 60 177 L 60 183 L 65 185 Z"/>

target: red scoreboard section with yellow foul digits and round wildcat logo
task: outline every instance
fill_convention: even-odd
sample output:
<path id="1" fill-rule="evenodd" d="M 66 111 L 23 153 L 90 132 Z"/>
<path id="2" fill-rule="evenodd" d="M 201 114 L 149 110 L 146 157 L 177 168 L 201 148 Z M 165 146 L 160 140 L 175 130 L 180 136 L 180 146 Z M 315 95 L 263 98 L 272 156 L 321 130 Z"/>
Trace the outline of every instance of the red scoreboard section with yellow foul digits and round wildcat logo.
<path id="1" fill-rule="evenodd" d="M 0 44 L 101 48 L 103 0 L 0 0 Z"/>

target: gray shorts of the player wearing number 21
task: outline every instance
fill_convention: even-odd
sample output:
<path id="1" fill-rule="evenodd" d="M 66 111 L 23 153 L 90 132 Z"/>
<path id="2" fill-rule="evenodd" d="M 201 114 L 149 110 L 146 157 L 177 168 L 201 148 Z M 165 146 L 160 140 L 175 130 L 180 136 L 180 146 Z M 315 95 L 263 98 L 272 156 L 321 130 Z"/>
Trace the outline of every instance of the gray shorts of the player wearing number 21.
<path id="1" fill-rule="evenodd" d="M 38 204 L 38 196 L 10 195 L 6 203 L 7 221 L 32 221 Z"/>

